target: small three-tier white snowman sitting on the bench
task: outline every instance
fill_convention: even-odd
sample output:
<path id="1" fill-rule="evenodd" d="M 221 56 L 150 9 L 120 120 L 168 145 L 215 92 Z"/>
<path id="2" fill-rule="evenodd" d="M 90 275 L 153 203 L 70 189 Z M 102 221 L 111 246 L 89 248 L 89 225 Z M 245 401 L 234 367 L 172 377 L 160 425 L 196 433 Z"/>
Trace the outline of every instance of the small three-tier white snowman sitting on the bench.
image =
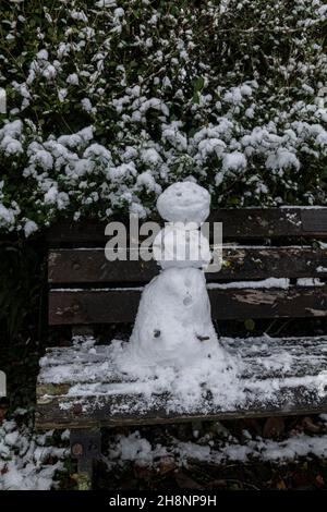
<path id="1" fill-rule="evenodd" d="M 159 196 L 157 208 L 168 221 L 154 241 L 162 270 L 143 291 L 130 351 L 143 366 L 183 367 L 199 357 L 222 363 L 204 276 L 211 254 L 199 230 L 210 195 L 193 182 L 179 182 Z"/>

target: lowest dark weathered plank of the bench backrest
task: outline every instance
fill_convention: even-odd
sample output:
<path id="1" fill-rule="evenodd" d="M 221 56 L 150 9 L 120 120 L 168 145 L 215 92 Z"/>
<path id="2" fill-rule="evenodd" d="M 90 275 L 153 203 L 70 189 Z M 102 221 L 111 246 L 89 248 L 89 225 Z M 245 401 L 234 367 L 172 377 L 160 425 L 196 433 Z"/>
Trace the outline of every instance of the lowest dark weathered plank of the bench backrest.
<path id="1" fill-rule="evenodd" d="M 219 287 L 219 284 L 216 284 Z M 49 324 L 110 324 L 134 321 L 140 289 L 52 290 Z M 216 319 L 304 318 L 327 316 L 326 287 L 289 289 L 210 289 Z"/>

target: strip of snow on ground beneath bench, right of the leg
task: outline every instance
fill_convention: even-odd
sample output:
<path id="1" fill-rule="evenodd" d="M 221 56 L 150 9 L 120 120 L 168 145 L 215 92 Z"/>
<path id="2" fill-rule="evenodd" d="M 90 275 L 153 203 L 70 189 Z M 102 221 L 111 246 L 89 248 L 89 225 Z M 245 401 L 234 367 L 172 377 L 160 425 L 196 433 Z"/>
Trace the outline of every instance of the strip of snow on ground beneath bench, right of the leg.
<path id="1" fill-rule="evenodd" d="M 325 420 L 322 417 L 322 420 Z M 327 434 L 308 436 L 304 432 L 290 435 L 283 440 L 264 439 L 259 436 L 252 437 L 250 432 L 244 436 L 242 443 L 229 435 L 228 429 L 217 423 L 217 431 L 227 431 L 216 438 L 214 447 L 209 438 L 190 441 L 181 441 L 172 438 L 167 446 L 153 441 L 152 443 L 142 437 L 138 430 L 124 436 L 118 435 L 112 441 L 108 452 L 108 465 L 124 462 L 135 462 L 137 465 L 146 464 L 149 467 L 160 465 L 161 459 L 171 458 L 177 466 L 187 466 L 190 460 L 206 462 L 208 464 L 223 464 L 228 462 L 251 463 L 253 461 L 264 462 L 288 462 L 300 458 L 327 456 Z M 196 436 L 194 436 L 196 438 Z M 229 439 L 223 439 L 228 437 Z"/>

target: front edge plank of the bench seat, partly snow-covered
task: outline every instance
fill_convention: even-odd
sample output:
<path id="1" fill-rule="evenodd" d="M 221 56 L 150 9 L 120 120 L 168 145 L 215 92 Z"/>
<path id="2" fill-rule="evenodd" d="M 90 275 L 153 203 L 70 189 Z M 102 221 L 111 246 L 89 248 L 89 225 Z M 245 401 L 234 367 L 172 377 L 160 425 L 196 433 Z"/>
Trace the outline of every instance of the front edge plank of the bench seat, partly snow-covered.
<path id="1" fill-rule="evenodd" d="M 121 402 L 120 397 L 88 397 L 80 402 L 73 399 L 55 399 L 49 403 L 39 403 L 36 411 L 36 428 L 93 428 L 117 427 L 122 425 L 156 425 L 180 422 L 221 420 L 244 417 L 290 416 L 300 414 L 326 413 L 327 399 L 319 398 L 307 391 L 305 387 L 282 388 L 279 400 L 272 403 L 261 403 L 249 400 L 246 407 L 235 407 L 223 411 L 218 407 L 202 410 L 192 413 L 167 413 L 165 401 L 158 400 L 150 410 L 143 413 L 133 413 L 135 405 L 142 401 L 141 397 L 129 397 Z M 124 413 L 116 414 L 113 411 L 120 405 Z M 208 404 L 205 404 L 208 407 Z M 63 409 L 64 407 L 64 409 Z M 131 411 L 131 412 L 129 412 Z"/>

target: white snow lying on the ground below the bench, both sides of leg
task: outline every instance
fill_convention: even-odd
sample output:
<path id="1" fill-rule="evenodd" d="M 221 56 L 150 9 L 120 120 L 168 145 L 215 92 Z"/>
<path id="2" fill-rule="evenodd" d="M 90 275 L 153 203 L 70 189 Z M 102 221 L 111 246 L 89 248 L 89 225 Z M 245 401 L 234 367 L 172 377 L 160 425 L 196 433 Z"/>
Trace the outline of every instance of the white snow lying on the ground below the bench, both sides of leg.
<path id="1" fill-rule="evenodd" d="M 20 414 L 25 414 L 21 411 Z M 15 413 L 17 414 L 17 412 Z M 320 434 L 290 434 L 284 439 L 271 440 L 243 431 L 243 439 L 231 436 L 220 423 L 213 424 L 209 434 L 193 439 L 177 436 L 153 436 L 135 429 L 130 434 L 111 436 L 108 451 L 101 460 L 108 470 L 128 466 L 131 462 L 141 467 L 156 470 L 166 461 L 175 467 L 187 467 L 189 462 L 208 464 L 230 462 L 252 463 L 253 461 L 286 463 L 312 456 L 327 458 L 327 416 L 322 414 L 325 428 Z M 35 434 L 26 422 L 4 420 L 0 425 L 0 490 L 49 490 L 58 486 L 59 472 L 64 471 L 63 462 L 69 449 L 58 448 L 51 442 L 52 430 Z M 227 424 L 228 425 L 228 424 Z M 245 435 L 246 434 L 246 435 Z M 68 442 L 69 430 L 61 434 Z M 53 463 L 51 458 L 57 462 Z"/>

